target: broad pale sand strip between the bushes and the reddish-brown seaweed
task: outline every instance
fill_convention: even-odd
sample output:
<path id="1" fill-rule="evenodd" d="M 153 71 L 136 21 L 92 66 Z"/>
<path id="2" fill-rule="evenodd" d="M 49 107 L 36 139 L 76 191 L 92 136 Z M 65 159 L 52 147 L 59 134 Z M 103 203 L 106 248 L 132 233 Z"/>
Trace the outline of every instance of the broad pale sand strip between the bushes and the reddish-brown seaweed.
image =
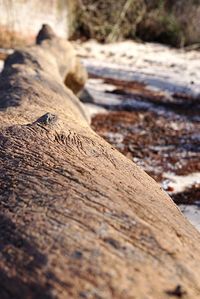
<path id="1" fill-rule="evenodd" d="M 200 52 L 133 41 L 110 45 L 89 41 L 76 43 L 76 49 L 90 72 L 137 80 L 169 93 L 200 94 Z"/>

